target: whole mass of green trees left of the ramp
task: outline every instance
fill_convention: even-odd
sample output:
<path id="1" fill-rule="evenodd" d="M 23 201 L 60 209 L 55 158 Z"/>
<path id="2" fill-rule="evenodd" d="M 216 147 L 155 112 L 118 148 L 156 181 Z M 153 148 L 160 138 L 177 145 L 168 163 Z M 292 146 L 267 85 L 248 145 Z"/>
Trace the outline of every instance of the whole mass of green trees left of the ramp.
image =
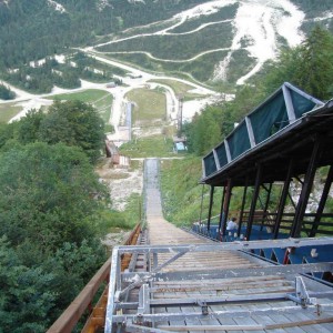
<path id="1" fill-rule="evenodd" d="M 107 259 L 103 122 L 79 101 L 0 127 L 0 332 L 46 332 Z"/>

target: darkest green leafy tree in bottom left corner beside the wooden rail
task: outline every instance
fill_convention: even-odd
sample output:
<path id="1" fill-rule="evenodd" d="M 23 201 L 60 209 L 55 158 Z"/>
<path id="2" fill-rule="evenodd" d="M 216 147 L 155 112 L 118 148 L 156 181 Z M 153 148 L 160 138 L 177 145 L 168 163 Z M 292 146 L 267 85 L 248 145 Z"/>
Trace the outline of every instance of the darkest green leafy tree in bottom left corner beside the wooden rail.
<path id="1" fill-rule="evenodd" d="M 23 265 L 6 236 L 0 236 L 0 332 L 46 332 L 56 291 L 41 268 Z"/>

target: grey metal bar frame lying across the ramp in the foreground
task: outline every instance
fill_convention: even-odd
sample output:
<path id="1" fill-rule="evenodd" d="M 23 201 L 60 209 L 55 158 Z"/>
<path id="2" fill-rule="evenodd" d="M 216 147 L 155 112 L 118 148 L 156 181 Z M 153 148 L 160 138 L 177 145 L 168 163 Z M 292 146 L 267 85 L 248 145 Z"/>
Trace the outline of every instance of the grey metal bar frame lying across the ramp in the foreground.
<path id="1" fill-rule="evenodd" d="M 206 313 L 189 312 L 189 313 L 175 313 L 175 312 L 155 312 L 152 313 L 151 309 L 154 306 L 180 306 L 180 302 L 183 305 L 193 306 L 193 304 L 203 304 L 213 302 L 214 304 L 226 304 L 231 302 L 230 299 L 213 297 L 208 299 L 208 295 L 202 294 L 202 300 L 195 297 L 189 299 L 175 299 L 175 300 L 159 300 L 151 297 L 151 283 L 161 281 L 200 281 L 201 283 L 204 279 L 233 279 L 233 278 L 248 278 L 248 276 L 264 276 L 264 275 L 285 275 L 285 274 L 300 274 L 307 272 L 322 272 L 331 271 L 332 263 L 311 263 L 311 264 L 296 264 L 296 265 L 272 265 L 263 268 L 239 268 L 239 269 L 214 269 L 200 270 L 198 268 L 193 271 L 163 271 L 164 268 L 175 262 L 178 259 L 184 256 L 186 253 L 216 253 L 225 250 L 254 250 L 254 249 L 270 249 L 272 246 L 285 249 L 289 246 L 302 248 L 302 246 L 319 246 L 333 244 L 332 238 L 322 239 L 289 239 L 289 240 L 270 240 L 270 241 L 251 241 L 251 242 L 234 242 L 234 243 L 214 243 L 214 244 L 183 244 L 183 245 L 141 245 L 141 246 L 115 246 L 112 253 L 111 263 L 111 275 L 110 275 L 110 287 L 109 287 L 109 303 L 107 310 L 107 321 L 105 321 L 105 333 L 115 332 L 117 327 L 129 329 L 129 332 L 164 332 L 159 329 L 153 329 L 150 326 L 152 323 L 168 322 L 172 320 L 183 320 L 184 316 L 193 320 L 195 319 L 208 319 Z M 145 254 L 151 258 L 149 270 L 144 272 L 125 271 L 121 272 L 121 258 L 125 253 L 131 254 Z M 170 256 L 165 258 L 165 254 Z M 164 254 L 164 255 L 160 255 Z M 209 254 L 208 254 L 209 255 Z M 129 302 L 125 295 L 132 290 L 139 290 L 139 301 Z M 240 295 L 235 295 L 238 297 Z M 326 296 L 326 294 L 325 294 Z M 331 294 L 330 294 L 331 296 Z M 276 300 L 276 295 L 273 295 Z M 285 300 L 286 294 L 283 292 L 281 294 L 281 300 Z M 238 301 L 249 301 L 254 300 L 251 294 L 249 299 L 238 299 Z M 270 300 L 269 294 L 262 295 L 259 301 Z M 202 301 L 202 302 L 201 302 Z M 330 311 L 333 309 L 333 303 L 327 305 Z M 315 306 L 312 306 L 315 310 Z M 130 312 L 127 312 L 130 310 Z M 282 309 L 283 310 L 283 309 Z M 287 311 L 299 311 L 300 307 L 287 307 Z M 260 310 L 262 311 L 262 310 Z M 225 316 L 244 316 L 244 315 L 265 315 L 269 311 L 273 311 L 273 314 L 281 313 L 281 309 L 266 309 L 266 313 L 255 312 L 252 310 L 244 310 L 244 312 L 238 313 L 234 310 L 228 312 L 214 312 L 212 317 L 225 317 Z M 275 311 L 275 312 L 274 312 Z M 148 323 L 149 326 L 143 324 Z M 143 326 L 142 326 L 143 325 Z M 133 330 L 138 331 L 133 331 Z M 117 331 L 118 332 L 118 331 Z"/>

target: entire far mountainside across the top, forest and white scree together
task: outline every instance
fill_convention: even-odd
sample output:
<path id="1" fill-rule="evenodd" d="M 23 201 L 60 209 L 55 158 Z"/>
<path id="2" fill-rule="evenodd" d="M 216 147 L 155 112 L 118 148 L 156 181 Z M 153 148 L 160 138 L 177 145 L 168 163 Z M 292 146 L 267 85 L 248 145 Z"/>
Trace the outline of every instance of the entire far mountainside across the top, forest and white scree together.
<path id="1" fill-rule="evenodd" d="M 0 0 L 0 71 L 94 44 L 153 71 L 233 85 L 314 23 L 333 31 L 331 8 L 333 0 Z"/>

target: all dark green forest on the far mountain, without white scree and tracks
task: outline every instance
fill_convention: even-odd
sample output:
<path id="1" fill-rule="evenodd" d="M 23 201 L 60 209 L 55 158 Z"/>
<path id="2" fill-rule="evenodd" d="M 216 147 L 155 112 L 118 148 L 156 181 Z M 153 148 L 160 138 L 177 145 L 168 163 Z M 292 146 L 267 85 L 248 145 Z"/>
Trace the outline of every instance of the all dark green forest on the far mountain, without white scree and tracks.
<path id="1" fill-rule="evenodd" d="M 69 58 L 67 63 L 59 63 L 54 57 L 70 56 L 73 48 L 110 41 L 117 36 L 143 33 L 144 30 L 152 32 L 154 26 L 168 24 L 163 20 L 204 2 L 208 0 L 59 0 L 57 3 L 62 8 L 56 10 L 54 2 L 47 0 L 0 1 L 0 78 L 32 93 L 50 92 L 53 85 L 64 89 L 78 88 L 81 84 L 80 79 L 100 82 L 114 80 L 117 75 L 114 69 L 92 67 L 88 59 L 85 64 L 81 62 L 82 67 L 75 68 L 74 60 Z M 292 0 L 292 2 L 306 14 L 302 26 L 305 32 L 312 29 L 317 17 L 325 14 L 332 8 L 332 0 L 315 2 Z M 210 16 L 200 16 L 185 21 L 171 31 L 181 33 L 204 23 L 220 22 L 195 34 L 142 37 L 107 46 L 101 50 L 143 50 L 157 58 L 181 60 L 191 59 L 201 51 L 228 48 L 233 37 L 233 29 L 230 22 L 221 23 L 221 21 L 232 20 L 238 8 L 238 2 L 231 3 Z M 148 26 L 150 23 L 154 24 L 150 27 Z M 332 20 L 320 21 L 320 23 L 333 31 Z M 143 65 L 145 69 L 170 72 L 179 77 L 185 74 L 186 78 L 193 77 L 201 82 L 216 85 L 216 82 L 212 82 L 214 68 L 226 56 L 225 53 L 226 51 L 219 51 L 184 63 L 158 61 L 144 54 L 118 57 L 123 61 Z M 38 60 L 41 59 L 47 59 L 46 63 L 38 64 Z M 229 68 L 229 80 L 223 83 L 224 89 L 233 85 L 238 78 L 249 72 L 253 62 L 246 49 L 235 51 L 233 60 Z"/>

